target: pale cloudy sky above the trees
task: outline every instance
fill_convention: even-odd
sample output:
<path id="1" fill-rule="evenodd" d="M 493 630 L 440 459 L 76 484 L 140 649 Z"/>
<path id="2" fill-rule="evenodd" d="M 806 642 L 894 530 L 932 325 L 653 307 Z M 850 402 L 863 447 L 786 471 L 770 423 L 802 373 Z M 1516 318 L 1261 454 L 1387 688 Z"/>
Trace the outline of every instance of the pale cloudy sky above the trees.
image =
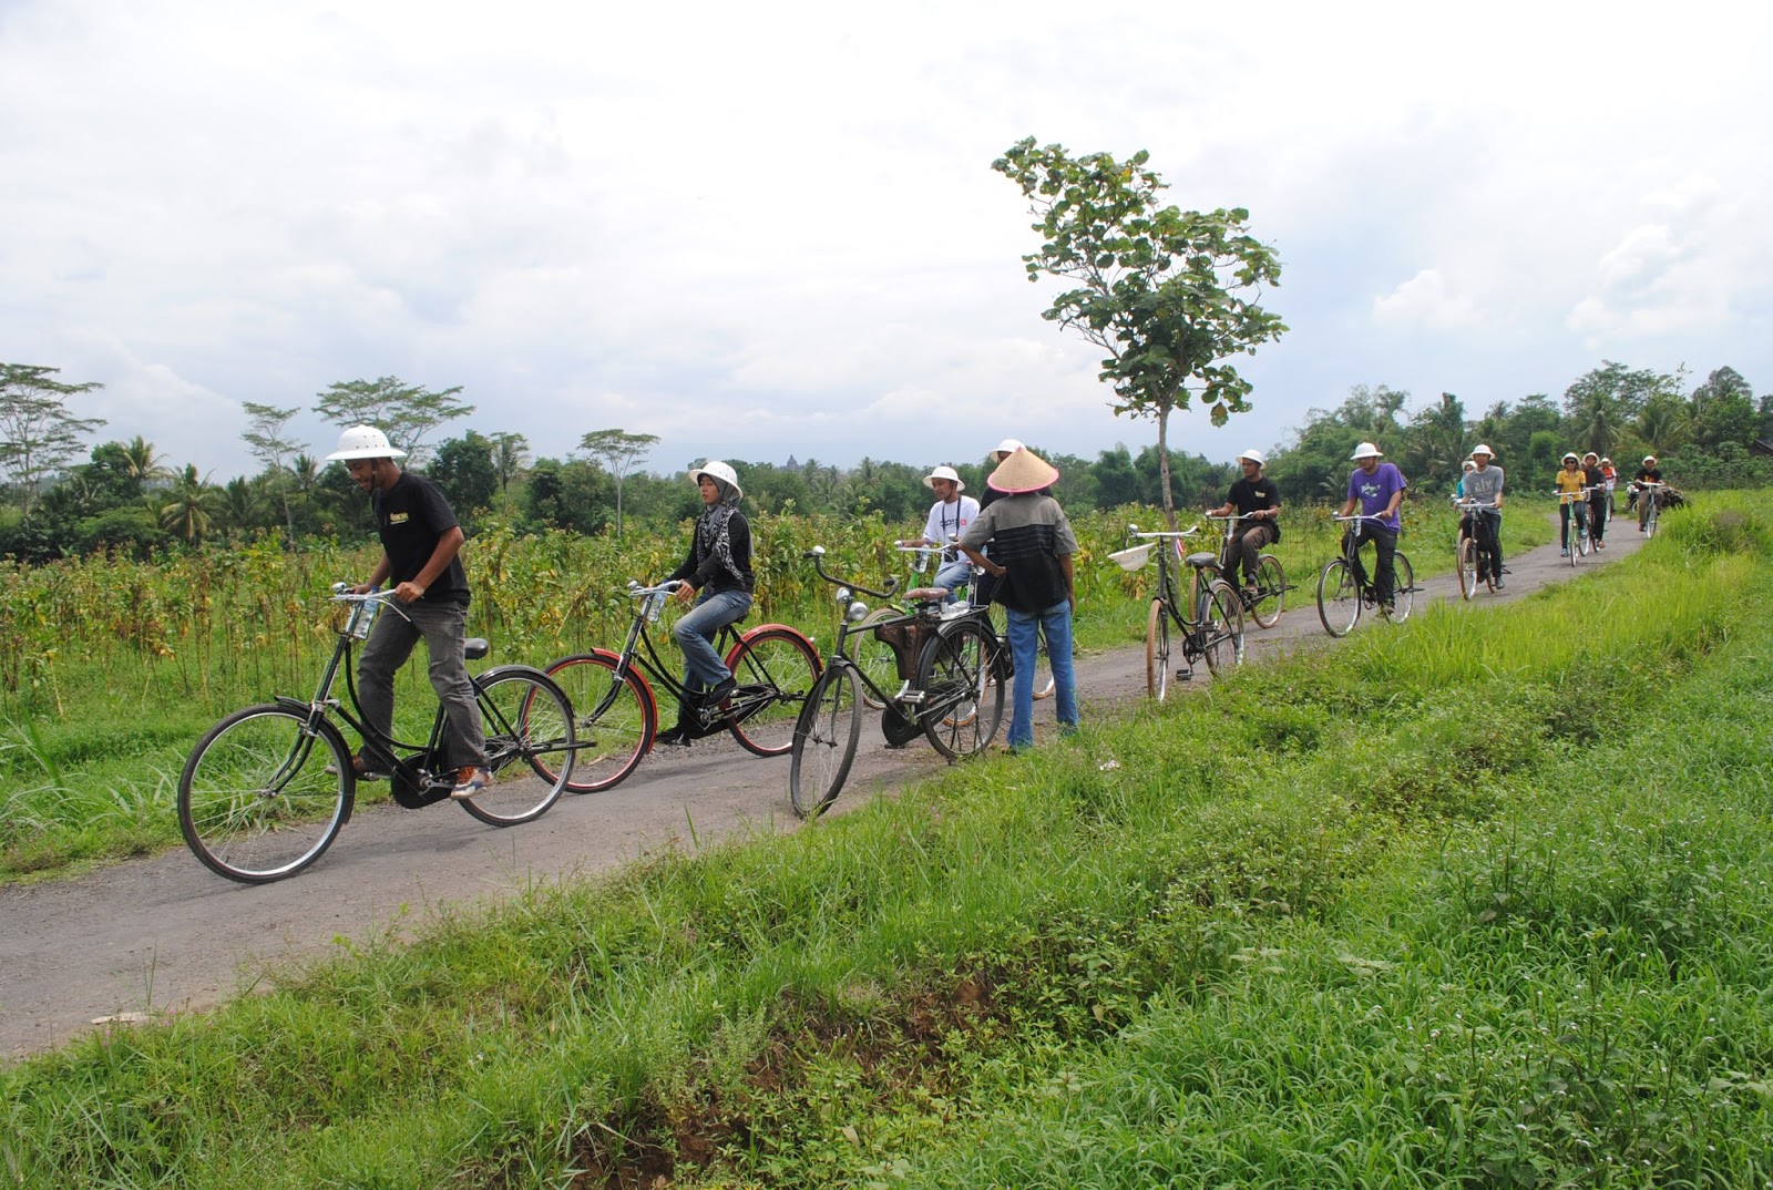
<path id="1" fill-rule="evenodd" d="M 1603 360 L 1773 388 L 1769 9 L 0 0 L 0 360 L 215 479 L 241 401 L 463 387 L 466 427 L 704 458 L 1094 456 L 1023 137 L 1245 206 L 1284 442 L 1356 383 L 1473 415 Z M 303 415 L 324 452 L 337 429 Z"/>

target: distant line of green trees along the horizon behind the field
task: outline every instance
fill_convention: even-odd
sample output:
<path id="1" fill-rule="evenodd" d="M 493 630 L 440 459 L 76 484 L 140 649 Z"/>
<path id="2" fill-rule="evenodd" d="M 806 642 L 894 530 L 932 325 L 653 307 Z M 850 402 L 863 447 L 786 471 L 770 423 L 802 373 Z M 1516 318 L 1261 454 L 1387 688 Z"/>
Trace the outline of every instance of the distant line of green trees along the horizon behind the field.
<path id="1" fill-rule="evenodd" d="M 371 532 L 363 493 L 342 465 L 324 463 L 328 447 L 294 438 L 289 422 L 300 406 L 245 403 L 241 435 L 261 470 L 213 482 L 193 463 L 172 466 L 154 443 L 83 443 L 103 420 L 74 406 L 94 383 L 64 383 L 57 371 L 0 364 L 0 557 L 43 562 L 66 555 L 154 550 L 280 536 L 294 546 L 303 537 L 362 537 Z M 429 438 L 475 406 L 461 388 L 433 392 L 399 378 L 356 380 L 317 394 L 314 410 L 344 427 L 371 422 L 408 450 L 408 463 L 434 479 L 470 532 L 491 521 L 518 530 L 566 528 L 615 532 L 626 525 L 661 527 L 693 518 L 700 509 L 686 470 L 640 470 L 658 447 L 652 435 L 596 429 L 564 456 L 534 458 L 518 433 L 466 429 L 434 447 Z M 1530 394 L 1496 401 L 1472 417 L 1454 394 L 1408 410 L 1410 394 L 1386 385 L 1356 385 L 1333 410 L 1312 410 L 1289 442 L 1269 454 L 1269 474 L 1291 504 L 1340 498 L 1349 454 L 1363 440 L 1378 442 L 1417 491 L 1445 491 L 1473 445 L 1489 445 L 1516 491 L 1550 489 L 1564 450 L 1610 454 L 1631 474 L 1644 454 L 1656 454 L 1665 475 L 1688 486 L 1773 482 L 1773 399 L 1755 399 L 1730 367 L 1713 371 L 1686 388 L 1683 372 L 1633 371 L 1606 362 L 1564 390 L 1560 401 Z M 1136 454 L 1126 445 L 1094 459 L 1034 449 L 1060 468 L 1067 507 L 1108 509 L 1124 504 L 1161 505 L 1163 459 L 1158 447 Z M 1255 445 L 1255 443 L 1252 443 Z M 82 458 L 83 456 L 83 458 Z M 922 520 L 933 500 L 922 477 L 949 463 L 968 491 L 984 488 L 984 458 L 931 459 L 920 465 L 863 458 L 835 466 L 793 458 L 784 463 L 729 459 L 750 507 L 867 516 L 886 523 Z M 1168 458 L 1170 500 L 1200 507 L 1223 498 L 1236 477 L 1230 463 L 1200 454 Z"/>

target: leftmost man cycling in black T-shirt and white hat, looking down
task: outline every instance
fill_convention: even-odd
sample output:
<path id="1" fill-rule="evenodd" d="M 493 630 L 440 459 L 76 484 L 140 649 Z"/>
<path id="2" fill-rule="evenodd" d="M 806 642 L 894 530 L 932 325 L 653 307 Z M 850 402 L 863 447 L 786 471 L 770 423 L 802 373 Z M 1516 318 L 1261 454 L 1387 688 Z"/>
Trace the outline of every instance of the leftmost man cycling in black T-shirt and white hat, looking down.
<path id="1" fill-rule="evenodd" d="M 468 575 L 463 571 L 463 532 L 443 493 L 424 475 L 402 472 L 395 459 L 406 450 L 388 443 L 374 426 L 353 426 L 339 435 L 339 449 L 328 461 L 344 463 L 358 488 L 369 493 L 381 537 L 381 560 L 369 582 L 353 587 L 369 594 L 385 582 L 394 583 L 394 598 L 404 612 L 378 615 L 356 662 L 358 704 L 363 722 L 381 736 L 394 734 L 394 676 L 413 646 L 424 637 L 431 654 L 431 688 L 449 716 L 447 764 L 456 770 L 452 798 L 472 798 L 486 787 L 486 736 L 480 706 L 468 681 L 465 656 L 468 640 Z M 351 768 L 358 779 L 376 780 L 392 768 L 394 757 L 363 741 L 369 755 L 358 752 Z"/>

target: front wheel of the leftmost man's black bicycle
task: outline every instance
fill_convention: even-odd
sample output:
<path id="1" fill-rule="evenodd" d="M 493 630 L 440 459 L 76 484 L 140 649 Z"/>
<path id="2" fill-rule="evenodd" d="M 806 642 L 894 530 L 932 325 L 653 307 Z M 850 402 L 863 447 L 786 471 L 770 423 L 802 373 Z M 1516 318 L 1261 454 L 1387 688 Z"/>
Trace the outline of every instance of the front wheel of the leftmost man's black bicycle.
<path id="1" fill-rule="evenodd" d="M 294 876 L 351 818 L 351 748 L 332 724 L 309 734 L 307 722 L 307 708 L 250 706 L 184 761 L 179 832 L 209 871 L 245 885 Z"/>

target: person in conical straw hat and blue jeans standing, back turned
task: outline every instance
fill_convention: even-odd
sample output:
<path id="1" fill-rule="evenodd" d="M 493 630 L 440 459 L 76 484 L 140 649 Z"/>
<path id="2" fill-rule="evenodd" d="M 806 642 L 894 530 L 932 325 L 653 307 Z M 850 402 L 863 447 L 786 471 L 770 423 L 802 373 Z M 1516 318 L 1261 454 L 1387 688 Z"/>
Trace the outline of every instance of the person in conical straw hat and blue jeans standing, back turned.
<path id="1" fill-rule="evenodd" d="M 1058 468 L 1027 447 L 1004 459 L 986 486 L 1002 493 L 979 514 L 961 537 L 961 550 L 998 578 L 993 598 L 1009 614 L 1009 651 L 1016 665 L 1011 685 L 1009 750 L 1034 747 L 1034 670 L 1046 637 L 1053 667 L 1060 731 L 1078 727 L 1078 683 L 1071 665 L 1071 615 L 1078 596 L 1073 585 L 1076 534 L 1058 500 L 1044 489 Z M 980 550 L 991 543 L 991 557 Z"/>

